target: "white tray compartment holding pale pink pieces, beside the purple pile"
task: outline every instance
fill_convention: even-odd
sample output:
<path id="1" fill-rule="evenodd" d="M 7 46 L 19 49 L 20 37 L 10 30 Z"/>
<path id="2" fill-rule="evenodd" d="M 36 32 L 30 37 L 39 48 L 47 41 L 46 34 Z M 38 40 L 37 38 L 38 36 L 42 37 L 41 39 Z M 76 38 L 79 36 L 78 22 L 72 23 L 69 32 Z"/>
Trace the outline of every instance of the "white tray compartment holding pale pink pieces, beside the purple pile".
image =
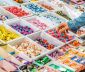
<path id="1" fill-rule="evenodd" d="M 26 20 L 28 23 L 34 25 L 35 27 L 37 27 L 39 30 L 47 30 L 47 29 L 50 29 L 50 28 L 53 28 L 54 26 L 52 25 L 52 22 L 49 21 L 49 20 L 46 20 L 42 17 L 38 17 L 38 16 L 32 16 L 32 17 L 27 17 L 27 18 L 23 18 L 24 20 Z M 32 21 L 32 20 L 35 20 L 35 21 Z M 40 21 L 40 23 L 46 25 L 46 28 L 45 29 L 42 29 L 40 28 L 40 25 L 36 26 L 36 20 Z M 35 22 L 35 24 L 33 24 L 33 22 Z M 37 22 L 38 23 L 38 22 Z"/>

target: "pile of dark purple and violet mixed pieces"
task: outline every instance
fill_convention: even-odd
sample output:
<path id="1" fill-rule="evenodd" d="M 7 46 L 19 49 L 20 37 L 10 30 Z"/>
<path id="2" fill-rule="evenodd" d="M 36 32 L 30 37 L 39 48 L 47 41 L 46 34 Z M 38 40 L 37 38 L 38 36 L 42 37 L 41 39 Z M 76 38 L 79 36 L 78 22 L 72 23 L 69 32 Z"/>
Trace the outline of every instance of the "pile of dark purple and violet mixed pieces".
<path id="1" fill-rule="evenodd" d="M 11 27 L 23 35 L 28 35 L 28 34 L 31 34 L 34 32 L 34 30 L 32 28 L 30 28 L 28 26 L 22 26 L 20 24 L 13 24 L 13 25 L 11 25 Z"/>

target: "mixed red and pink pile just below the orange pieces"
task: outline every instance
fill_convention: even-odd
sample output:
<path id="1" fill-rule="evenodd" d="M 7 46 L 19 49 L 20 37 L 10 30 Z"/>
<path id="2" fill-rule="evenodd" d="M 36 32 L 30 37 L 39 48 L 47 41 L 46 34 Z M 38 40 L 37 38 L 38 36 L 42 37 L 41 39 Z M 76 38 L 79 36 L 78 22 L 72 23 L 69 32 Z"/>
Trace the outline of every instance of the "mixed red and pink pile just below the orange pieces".
<path id="1" fill-rule="evenodd" d="M 65 43 L 74 39 L 74 36 L 71 36 L 69 33 L 61 33 L 56 28 L 48 30 L 47 33 Z"/>

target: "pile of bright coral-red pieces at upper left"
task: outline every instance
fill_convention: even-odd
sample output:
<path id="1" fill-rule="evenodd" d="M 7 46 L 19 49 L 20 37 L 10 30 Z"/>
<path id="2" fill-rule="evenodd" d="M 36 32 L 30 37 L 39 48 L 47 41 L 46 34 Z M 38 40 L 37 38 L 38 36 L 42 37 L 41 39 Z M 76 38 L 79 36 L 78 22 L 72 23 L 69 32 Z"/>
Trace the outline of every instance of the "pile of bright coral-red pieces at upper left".
<path id="1" fill-rule="evenodd" d="M 29 15 L 29 13 L 25 12 L 24 10 L 22 10 L 21 8 L 18 8 L 16 6 L 5 7 L 5 9 L 18 17 Z"/>

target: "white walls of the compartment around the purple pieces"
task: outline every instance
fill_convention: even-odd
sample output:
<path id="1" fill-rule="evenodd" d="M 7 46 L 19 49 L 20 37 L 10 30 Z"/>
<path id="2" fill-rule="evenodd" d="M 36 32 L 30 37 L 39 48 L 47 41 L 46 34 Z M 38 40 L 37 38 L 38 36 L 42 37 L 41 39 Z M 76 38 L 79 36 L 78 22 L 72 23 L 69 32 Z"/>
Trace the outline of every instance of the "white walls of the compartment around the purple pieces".
<path id="1" fill-rule="evenodd" d="M 33 33 L 39 31 L 39 29 L 37 27 L 33 26 L 32 24 L 26 22 L 23 19 L 15 18 L 13 20 L 6 21 L 5 24 L 9 25 L 11 28 L 13 28 L 11 25 L 13 25 L 13 26 L 14 25 L 20 25 L 20 26 L 23 26 L 23 27 L 27 26 L 28 28 L 31 28 L 33 30 Z M 16 29 L 14 29 L 14 30 L 17 31 Z M 17 31 L 17 32 L 19 32 L 19 31 Z M 22 34 L 21 32 L 19 32 L 19 33 Z M 24 34 L 22 34 L 22 35 L 24 35 Z M 29 35 L 29 34 L 26 34 L 26 35 Z"/>

